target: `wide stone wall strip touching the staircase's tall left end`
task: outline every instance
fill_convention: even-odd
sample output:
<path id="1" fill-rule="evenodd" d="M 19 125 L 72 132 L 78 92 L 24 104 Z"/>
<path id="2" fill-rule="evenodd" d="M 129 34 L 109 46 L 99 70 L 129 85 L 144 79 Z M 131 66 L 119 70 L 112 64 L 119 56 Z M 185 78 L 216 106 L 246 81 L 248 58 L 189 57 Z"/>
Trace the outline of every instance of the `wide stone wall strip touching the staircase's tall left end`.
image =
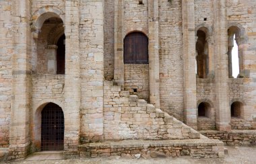
<path id="1" fill-rule="evenodd" d="M 82 142 L 103 139 L 104 1 L 80 1 Z"/>

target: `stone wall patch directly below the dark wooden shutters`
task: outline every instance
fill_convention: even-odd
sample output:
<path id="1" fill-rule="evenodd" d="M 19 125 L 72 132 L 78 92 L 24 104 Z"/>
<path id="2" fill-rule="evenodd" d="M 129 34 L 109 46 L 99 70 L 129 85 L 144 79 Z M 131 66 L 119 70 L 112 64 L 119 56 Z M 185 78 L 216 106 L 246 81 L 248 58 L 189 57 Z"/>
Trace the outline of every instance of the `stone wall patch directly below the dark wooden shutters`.
<path id="1" fill-rule="evenodd" d="M 129 65 L 125 64 L 125 90 L 140 99 L 148 101 L 149 79 L 148 65 Z M 135 91 L 134 89 L 137 89 Z"/>

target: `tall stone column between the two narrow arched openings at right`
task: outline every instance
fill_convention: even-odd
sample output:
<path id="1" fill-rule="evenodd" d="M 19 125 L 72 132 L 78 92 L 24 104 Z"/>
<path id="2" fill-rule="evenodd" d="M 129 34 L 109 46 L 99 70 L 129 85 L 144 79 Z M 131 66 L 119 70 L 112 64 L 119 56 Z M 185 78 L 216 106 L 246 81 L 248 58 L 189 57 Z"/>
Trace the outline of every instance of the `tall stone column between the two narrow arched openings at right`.
<path id="1" fill-rule="evenodd" d="M 214 0 L 215 72 L 216 72 L 216 127 L 230 130 L 228 98 L 228 32 L 226 28 L 226 0 Z"/>

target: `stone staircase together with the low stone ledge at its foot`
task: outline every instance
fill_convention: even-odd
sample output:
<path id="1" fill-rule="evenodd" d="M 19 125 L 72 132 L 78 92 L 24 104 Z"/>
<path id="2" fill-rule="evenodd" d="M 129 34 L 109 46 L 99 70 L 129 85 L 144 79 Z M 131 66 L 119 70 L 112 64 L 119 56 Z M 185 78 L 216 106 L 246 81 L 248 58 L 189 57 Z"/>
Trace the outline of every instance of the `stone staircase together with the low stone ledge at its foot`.
<path id="1" fill-rule="evenodd" d="M 80 157 L 224 157 L 224 144 L 104 81 L 104 142 L 79 145 Z"/>

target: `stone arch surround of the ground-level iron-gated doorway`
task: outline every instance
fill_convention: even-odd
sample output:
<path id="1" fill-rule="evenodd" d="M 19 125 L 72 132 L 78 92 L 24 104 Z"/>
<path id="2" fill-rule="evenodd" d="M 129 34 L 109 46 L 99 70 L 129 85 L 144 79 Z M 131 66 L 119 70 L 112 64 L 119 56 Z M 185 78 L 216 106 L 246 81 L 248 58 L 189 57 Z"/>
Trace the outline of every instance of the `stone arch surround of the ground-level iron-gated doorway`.
<path id="1" fill-rule="evenodd" d="M 65 110 L 63 108 L 63 104 L 61 104 L 60 101 L 56 101 L 56 100 L 51 100 L 51 101 L 40 101 L 38 102 L 38 104 L 36 104 L 36 110 L 33 114 L 33 136 L 34 136 L 34 149 L 36 151 L 40 151 L 40 147 L 41 147 L 41 112 L 44 109 L 44 107 L 49 104 L 49 103 L 53 103 L 56 104 L 57 106 L 61 107 L 63 114 L 65 116 Z M 65 118 L 65 117 L 64 117 Z"/>

